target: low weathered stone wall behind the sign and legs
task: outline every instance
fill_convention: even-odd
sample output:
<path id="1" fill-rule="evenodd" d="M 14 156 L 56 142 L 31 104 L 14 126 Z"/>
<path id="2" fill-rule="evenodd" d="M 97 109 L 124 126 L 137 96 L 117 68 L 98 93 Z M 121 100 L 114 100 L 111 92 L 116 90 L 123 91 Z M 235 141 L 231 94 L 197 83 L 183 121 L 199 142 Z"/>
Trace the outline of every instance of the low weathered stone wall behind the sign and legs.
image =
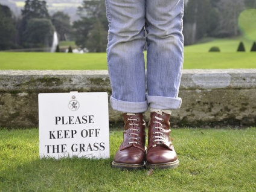
<path id="1" fill-rule="evenodd" d="M 0 71 L 0 126 L 37 127 L 38 94 L 70 91 L 110 96 L 107 71 Z M 179 97 L 173 127 L 256 126 L 256 69 L 184 70 Z M 109 121 L 122 121 L 110 106 Z"/>

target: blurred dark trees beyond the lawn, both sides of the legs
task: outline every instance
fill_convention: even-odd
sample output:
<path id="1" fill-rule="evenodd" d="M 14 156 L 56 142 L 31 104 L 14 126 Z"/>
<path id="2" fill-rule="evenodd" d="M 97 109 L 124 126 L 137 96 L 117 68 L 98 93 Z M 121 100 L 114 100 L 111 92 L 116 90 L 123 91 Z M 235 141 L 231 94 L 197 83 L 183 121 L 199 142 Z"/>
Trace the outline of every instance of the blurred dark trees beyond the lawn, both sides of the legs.
<path id="1" fill-rule="evenodd" d="M 106 51 L 108 22 L 104 0 L 83 0 L 77 8 L 80 19 L 72 24 L 70 16 L 62 11 L 50 16 L 47 2 L 26 0 L 21 18 L 14 18 L 9 7 L 0 5 L 0 50 L 49 46 L 53 38 L 51 33 L 56 30 L 59 40 L 74 40 L 75 45 L 89 52 Z M 29 22 L 31 19 L 37 20 Z M 184 44 L 193 45 L 206 37 L 241 35 L 256 40 L 255 19 L 256 0 L 187 0 L 183 19 Z"/>

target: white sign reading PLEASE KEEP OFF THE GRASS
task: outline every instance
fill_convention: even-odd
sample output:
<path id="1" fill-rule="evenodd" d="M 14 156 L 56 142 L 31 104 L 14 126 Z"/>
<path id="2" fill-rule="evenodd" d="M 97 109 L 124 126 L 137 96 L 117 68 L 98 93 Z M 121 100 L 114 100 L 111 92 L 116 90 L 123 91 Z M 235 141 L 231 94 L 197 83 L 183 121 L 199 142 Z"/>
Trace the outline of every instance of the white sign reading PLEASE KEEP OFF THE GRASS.
<path id="1" fill-rule="evenodd" d="M 40 158 L 109 158 L 106 92 L 39 94 Z"/>

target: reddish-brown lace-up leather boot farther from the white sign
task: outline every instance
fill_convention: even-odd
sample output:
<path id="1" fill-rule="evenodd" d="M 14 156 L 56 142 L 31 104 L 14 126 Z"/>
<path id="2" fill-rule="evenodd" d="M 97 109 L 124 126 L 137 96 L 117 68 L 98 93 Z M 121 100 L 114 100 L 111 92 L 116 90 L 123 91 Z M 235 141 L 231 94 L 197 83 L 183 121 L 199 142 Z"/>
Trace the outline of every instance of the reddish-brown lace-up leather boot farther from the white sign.
<path id="1" fill-rule="evenodd" d="M 170 139 L 170 117 L 164 112 L 150 113 L 147 168 L 175 168 L 179 165 Z"/>

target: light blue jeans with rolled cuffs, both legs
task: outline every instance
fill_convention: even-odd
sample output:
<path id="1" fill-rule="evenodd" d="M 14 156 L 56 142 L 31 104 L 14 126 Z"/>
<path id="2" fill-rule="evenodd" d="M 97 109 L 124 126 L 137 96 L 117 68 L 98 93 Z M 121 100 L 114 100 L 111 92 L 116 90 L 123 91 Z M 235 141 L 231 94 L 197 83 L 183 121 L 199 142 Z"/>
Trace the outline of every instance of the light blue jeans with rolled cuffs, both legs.
<path id="1" fill-rule="evenodd" d="M 106 0 L 106 9 L 112 108 L 133 113 L 148 107 L 178 109 L 184 0 Z"/>

